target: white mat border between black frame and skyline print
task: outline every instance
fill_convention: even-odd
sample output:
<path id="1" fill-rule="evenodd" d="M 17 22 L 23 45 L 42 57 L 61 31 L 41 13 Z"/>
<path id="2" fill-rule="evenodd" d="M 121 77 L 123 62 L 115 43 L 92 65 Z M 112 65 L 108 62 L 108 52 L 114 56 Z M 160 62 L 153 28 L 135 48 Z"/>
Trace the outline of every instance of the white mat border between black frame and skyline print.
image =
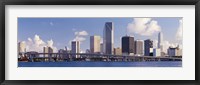
<path id="1" fill-rule="evenodd" d="M 194 80 L 194 5 L 6 5 L 6 80 Z M 17 17 L 183 17 L 182 67 L 17 68 Z"/>

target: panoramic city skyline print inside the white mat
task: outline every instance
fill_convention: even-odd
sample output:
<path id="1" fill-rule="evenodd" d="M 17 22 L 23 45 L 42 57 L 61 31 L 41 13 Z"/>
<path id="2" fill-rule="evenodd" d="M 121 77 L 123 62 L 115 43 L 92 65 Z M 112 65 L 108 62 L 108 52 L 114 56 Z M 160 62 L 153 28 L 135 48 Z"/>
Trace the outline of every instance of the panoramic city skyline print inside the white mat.
<path id="1" fill-rule="evenodd" d="M 172 36 L 163 37 L 177 29 L 161 30 L 157 19 L 133 18 L 37 19 L 59 23 L 53 27 L 56 29 L 43 27 L 35 18 L 20 18 L 18 67 L 182 67 L 181 37 L 176 41 L 170 40 Z M 29 20 L 35 24 L 27 24 Z M 166 23 L 168 20 L 163 24 L 172 26 Z M 176 22 L 181 20 L 175 19 Z M 91 24 L 94 22 L 98 25 Z M 177 26 L 179 24 L 177 22 Z M 34 34 L 27 35 L 29 32 Z"/>

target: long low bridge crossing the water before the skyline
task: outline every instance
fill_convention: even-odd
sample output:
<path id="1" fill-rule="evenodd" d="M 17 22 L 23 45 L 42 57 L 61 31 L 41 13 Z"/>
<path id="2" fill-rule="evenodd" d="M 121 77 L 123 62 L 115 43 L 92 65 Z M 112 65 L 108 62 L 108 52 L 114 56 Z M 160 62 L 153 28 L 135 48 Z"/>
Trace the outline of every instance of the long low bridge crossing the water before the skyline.
<path id="1" fill-rule="evenodd" d="M 30 62 L 47 61 L 182 61 L 177 57 L 130 56 L 96 53 L 25 53 Z"/>

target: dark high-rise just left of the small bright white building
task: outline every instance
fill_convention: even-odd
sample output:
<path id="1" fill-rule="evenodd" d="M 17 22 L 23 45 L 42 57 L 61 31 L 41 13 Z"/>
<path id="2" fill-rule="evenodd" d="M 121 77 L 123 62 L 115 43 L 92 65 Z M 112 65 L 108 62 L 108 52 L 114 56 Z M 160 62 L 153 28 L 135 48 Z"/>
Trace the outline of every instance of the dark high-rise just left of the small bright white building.
<path id="1" fill-rule="evenodd" d="M 144 55 L 150 56 L 153 48 L 153 40 L 147 39 L 144 41 Z"/>

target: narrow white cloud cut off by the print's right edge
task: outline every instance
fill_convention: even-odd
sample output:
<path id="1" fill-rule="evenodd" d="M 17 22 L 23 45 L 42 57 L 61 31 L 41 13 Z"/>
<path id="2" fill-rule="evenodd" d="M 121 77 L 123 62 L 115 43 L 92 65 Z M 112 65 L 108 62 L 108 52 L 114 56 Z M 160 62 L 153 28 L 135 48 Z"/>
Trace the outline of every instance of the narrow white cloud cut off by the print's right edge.
<path id="1" fill-rule="evenodd" d="M 179 28 L 176 32 L 176 40 L 182 42 L 183 33 L 183 20 L 179 20 Z"/>

